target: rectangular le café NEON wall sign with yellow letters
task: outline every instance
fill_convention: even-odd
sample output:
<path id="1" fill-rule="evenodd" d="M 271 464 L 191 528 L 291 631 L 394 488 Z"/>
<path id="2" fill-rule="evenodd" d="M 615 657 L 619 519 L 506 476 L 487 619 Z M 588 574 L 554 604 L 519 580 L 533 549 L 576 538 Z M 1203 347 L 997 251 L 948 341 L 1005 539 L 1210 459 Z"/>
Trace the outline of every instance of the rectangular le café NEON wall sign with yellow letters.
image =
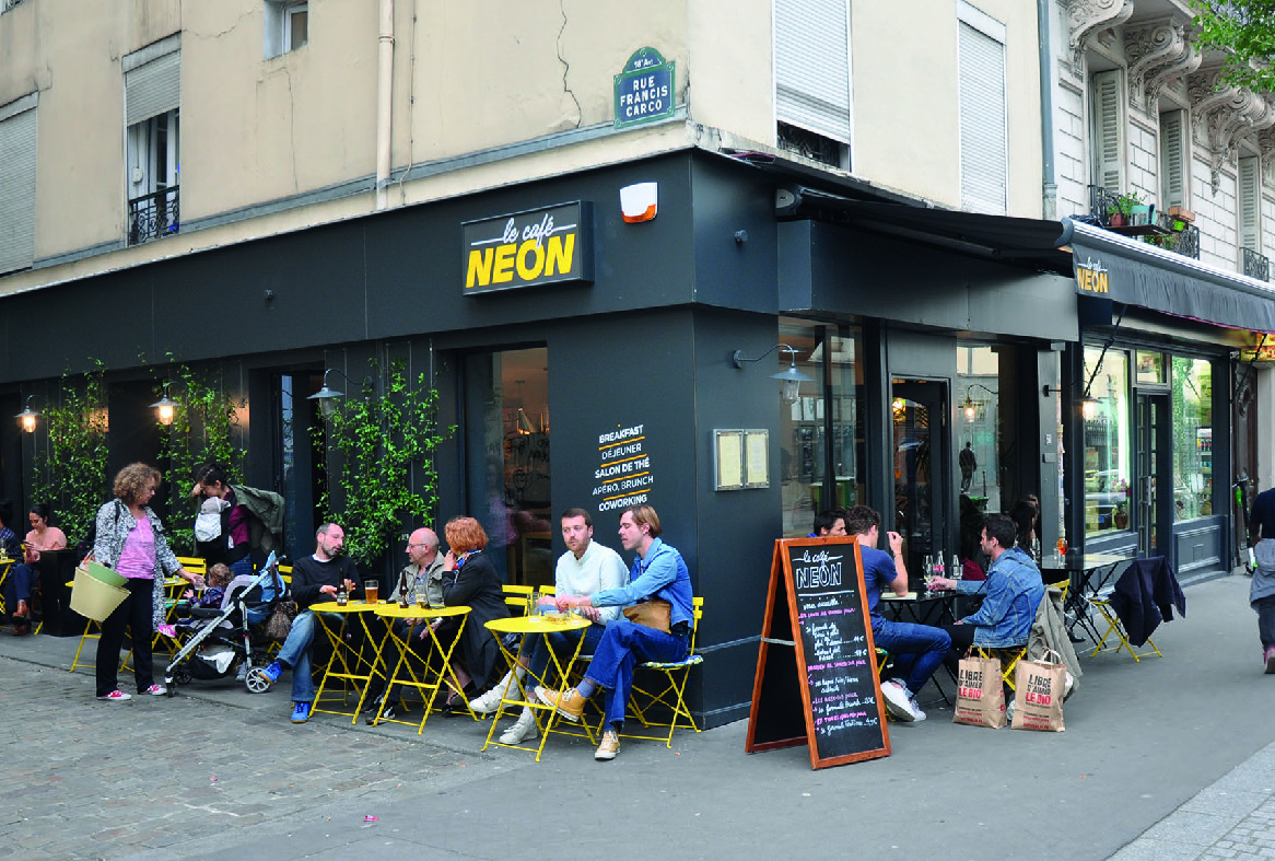
<path id="1" fill-rule="evenodd" d="M 588 202 L 460 227 L 465 293 L 593 281 L 593 205 Z"/>

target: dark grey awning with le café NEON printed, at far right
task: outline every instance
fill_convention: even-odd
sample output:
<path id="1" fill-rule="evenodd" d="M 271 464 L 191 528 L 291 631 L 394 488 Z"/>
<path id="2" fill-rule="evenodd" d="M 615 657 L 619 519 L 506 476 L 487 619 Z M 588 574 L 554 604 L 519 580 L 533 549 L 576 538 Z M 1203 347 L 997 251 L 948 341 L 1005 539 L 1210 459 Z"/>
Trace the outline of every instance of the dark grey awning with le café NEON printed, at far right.
<path id="1" fill-rule="evenodd" d="M 1145 242 L 1063 219 L 1076 292 L 1173 316 L 1275 332 L 1275 288 Z"/>

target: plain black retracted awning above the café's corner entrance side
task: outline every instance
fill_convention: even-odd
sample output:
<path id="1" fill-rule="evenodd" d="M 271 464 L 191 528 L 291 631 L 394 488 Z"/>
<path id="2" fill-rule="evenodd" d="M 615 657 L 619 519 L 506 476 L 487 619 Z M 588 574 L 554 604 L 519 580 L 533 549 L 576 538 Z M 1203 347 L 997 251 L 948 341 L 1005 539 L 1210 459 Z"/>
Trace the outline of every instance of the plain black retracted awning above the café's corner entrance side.
<path id="1" fill-rule="evenodd" d="M 1071 274 L 1071 258 L 1060 250 L 1066 230 L 1057 221 L 856 200 L 806 186 L 780 188 L 776 210 L 780 217 L 816 218 L 989 260 Z"/>

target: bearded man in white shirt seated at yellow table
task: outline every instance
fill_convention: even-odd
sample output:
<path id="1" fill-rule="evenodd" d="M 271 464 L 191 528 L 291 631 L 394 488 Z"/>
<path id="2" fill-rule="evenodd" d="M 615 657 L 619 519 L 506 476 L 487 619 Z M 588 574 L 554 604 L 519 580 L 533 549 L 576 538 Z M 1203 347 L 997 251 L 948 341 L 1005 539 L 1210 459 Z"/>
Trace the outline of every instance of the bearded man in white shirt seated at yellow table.
<path id="1" fill-rule="evenodd" d="M 562 511 L 562 541 L 566 543 L 567 551 L 558 557 L 557 570 L 553 575 L 558 597 L 588 596 L 602 589 L 616 589 L 629 583 L 629 569 L 625 566 L 625 561 L 620 557 L 620 554 L 611 547 L 593 541 L 593 519 L 583 508 L 569 508 Z M 552 605 L 553 598 L 546 598 L 543 603 Z M 597 647 L 598 640 L 602 639 L 602 631 L 606 630 L 607 622 L 620 619 L 620 614 L 621 607 L 618 606 L 581 607 L 580 615 L 593 622 L 588 628 L 575 631 L 552 633 L 543 637 L 533 635 L 533 640 L 523 647 L 523 654 L 530 656 L 527 666 L 530 667 L 532 675 L 536 679 L 543 679 L 544 670 L 550 665 L 550 649 L 552 648 L 555 654 L 570 654 L 575 651 L 576 640 L 581 637 L 584 638 L 584 644 L 580 647 L 580 653 L 593 654 L 593 649 Z M 524 661 L 527 661 L 525 657 Z M 527 672 L 527 667 L 519 666 L 516 672 L 518 677 L 521 679 Z M 496 682 L 495 688 L 470 702 L 469 708 L 479 713 L 495 712 L 500 705 L 500 699 L 505 689 L 514 684 L 513 679 L 513 671 L 506 673 L 504 679 Z M 528 696 L 534 696 L 530 686 L 528 686 L 527 694 Z M 532 714 L 532 709 L 524 708 L 518 718 L 518 723 L 500 736 L 500 742 L 504 745 L 516 745 L 536 736 L 536 717 Z"/>

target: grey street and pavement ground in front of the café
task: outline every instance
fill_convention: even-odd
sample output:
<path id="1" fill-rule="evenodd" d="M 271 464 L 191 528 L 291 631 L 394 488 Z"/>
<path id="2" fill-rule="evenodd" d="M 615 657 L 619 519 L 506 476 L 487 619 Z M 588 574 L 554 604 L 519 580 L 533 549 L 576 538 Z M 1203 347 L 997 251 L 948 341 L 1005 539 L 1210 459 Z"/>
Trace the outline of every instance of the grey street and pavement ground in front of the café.
<path id="1" fill-rule="evenodd" d="M 803 746 L 746 754 L 745 721 L 612 763 L 553 737 L 539 764 L 482 753 L 468 717 L 293 726 L 287 677 L 99 703 L 68 672 L 78 638 L 5 628 L 0 857 L 1269 857 L 1275 676 L 1248 583 L 1188 587 L 1163 658 L 1085 652 L 1066 732 L 958 726 L 937 702 L 890 725 L 890 756 L 821 770 Z"/>

